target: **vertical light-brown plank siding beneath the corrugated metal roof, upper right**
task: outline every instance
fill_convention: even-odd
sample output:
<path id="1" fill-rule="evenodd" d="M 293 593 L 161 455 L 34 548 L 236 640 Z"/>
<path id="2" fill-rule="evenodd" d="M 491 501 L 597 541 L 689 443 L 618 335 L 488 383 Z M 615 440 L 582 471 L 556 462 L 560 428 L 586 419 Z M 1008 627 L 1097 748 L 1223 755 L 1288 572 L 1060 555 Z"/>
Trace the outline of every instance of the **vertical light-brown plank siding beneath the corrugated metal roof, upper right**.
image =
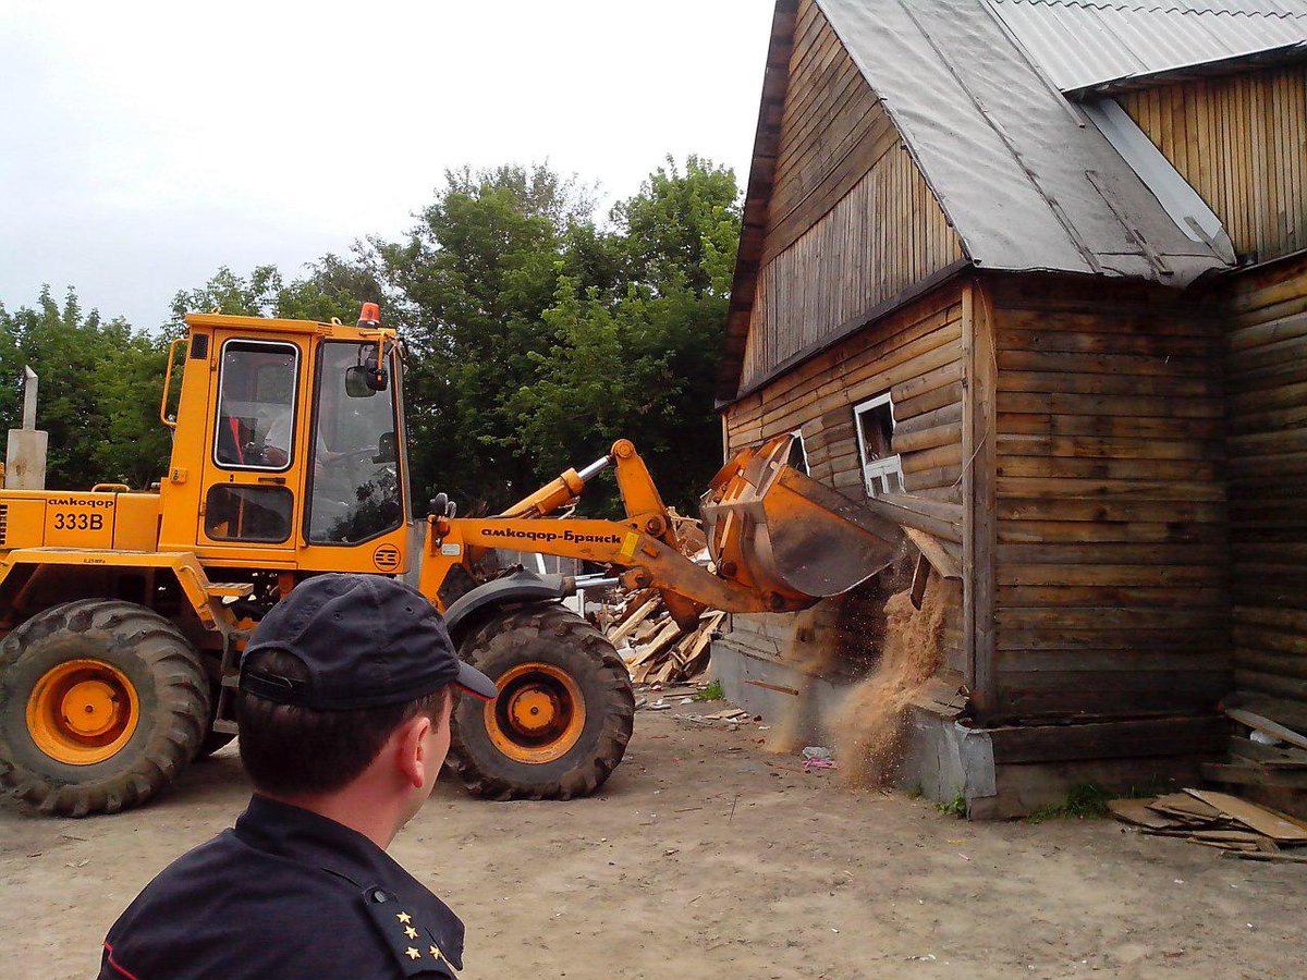
<path id="1" fill-rule="evenodd" d="M 1307 247 L 1307 65 L 1119 101 L 1217 213 L 1240 256 L 1265 261 Z"/>

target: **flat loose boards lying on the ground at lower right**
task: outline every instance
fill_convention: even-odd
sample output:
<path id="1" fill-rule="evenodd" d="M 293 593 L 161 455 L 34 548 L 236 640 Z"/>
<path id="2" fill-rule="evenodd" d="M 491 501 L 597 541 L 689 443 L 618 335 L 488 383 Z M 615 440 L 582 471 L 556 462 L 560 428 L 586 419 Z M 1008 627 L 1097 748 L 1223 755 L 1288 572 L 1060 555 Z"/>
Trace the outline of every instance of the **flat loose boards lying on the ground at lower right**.
<path id="1" fill-rule="evenodd" d="M 1229 793 L 1185 789 L 1150 800 L 1112 800 L 1107 806 L 1141 834 L 1184 838 L 1231 857 L 1307 864 L 1307 823 Z"/>

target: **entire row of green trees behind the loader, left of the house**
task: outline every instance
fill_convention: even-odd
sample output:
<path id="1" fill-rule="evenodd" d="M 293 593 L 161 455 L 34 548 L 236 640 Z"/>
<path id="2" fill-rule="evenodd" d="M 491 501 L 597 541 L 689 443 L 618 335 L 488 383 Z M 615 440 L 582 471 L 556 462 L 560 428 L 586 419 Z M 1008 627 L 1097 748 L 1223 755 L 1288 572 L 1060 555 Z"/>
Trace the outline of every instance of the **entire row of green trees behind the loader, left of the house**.
<path id="1" fill-rule="evenodd" d="M 370 238 L 293 278 L 220 268 L 180 290 L 156 335 L 84 314 L 69 293 L 0 307 L 0 416 L 16 366 L 42 372 L 51 486 L 145 485 L 166 466 L 157 422 L 166 341 L 187 312 L 349 321 L 380 301 L 408 350 L 421 502 L 495 511 L 620 436 L 669 503 L 693 506 L 720 463 L 712 378 L 740 235 L 732 171 L 668 159 L 596 218 L 596 195 L 548 166 L 450 171 L 397 240 Z M 609 507 L 612 495 L 599 495 Z"/>

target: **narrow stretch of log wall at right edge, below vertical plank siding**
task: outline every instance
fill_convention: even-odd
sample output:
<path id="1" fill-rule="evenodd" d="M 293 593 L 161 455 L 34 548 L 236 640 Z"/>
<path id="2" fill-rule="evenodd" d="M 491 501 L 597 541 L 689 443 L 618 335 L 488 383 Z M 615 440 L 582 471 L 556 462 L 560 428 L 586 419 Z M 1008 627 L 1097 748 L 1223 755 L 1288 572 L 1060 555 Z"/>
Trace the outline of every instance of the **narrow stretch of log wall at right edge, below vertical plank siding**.
<path id="1" fill-rule="evenodd" d="M 1226 332 L 1235 686 L 1307 730 L 1307 255 L 1239 273 Z"/>

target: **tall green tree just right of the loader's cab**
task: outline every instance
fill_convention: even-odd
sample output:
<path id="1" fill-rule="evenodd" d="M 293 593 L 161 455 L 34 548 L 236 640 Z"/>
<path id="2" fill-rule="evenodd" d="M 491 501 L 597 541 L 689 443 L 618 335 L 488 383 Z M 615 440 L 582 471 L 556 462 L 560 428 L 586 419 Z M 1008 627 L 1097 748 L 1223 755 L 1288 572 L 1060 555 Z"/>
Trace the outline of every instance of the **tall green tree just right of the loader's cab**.
<path id="1" fill-rule="evenodd" d="M 412 351 L 414 485 L 495 510 L 540 476 L 515 392 L 553 345 L 544 318 L 591 203 L 545 166 L 446 174 L 403 242 L 374 240 Z"/>

